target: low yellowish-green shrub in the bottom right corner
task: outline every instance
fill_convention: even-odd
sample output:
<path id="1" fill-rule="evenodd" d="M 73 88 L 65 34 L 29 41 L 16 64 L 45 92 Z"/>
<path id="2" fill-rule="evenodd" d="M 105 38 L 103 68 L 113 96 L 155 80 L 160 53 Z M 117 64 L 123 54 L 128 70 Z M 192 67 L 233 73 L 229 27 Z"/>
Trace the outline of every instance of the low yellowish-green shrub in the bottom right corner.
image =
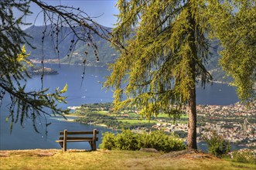
<path id="1" fill-rule="evenodd" d="M 254 151 L 245 149 L 243 151 L 233 151 L 231 153 L 232 161 L 256 164 L 256 156 Z"/>

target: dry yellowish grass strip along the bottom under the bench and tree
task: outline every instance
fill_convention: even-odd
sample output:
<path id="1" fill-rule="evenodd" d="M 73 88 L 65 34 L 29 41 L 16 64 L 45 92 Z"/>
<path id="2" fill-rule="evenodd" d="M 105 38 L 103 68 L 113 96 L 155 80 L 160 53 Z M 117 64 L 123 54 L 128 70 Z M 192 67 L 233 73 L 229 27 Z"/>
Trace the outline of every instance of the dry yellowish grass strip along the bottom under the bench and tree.
<path id="1" fill-rule="evenodd" d="M 255 169 L 204 153 L 142 151 L 0 151 L 0 169 Z"/>

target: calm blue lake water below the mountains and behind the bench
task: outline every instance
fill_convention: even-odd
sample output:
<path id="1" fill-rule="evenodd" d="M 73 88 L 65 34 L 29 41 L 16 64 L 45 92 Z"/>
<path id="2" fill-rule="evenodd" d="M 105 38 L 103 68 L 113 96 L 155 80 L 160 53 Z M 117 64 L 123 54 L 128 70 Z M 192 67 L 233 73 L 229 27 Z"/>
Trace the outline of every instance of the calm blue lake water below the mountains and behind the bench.
<path id="1" fill-rule="evenodd" d="M 80 106 L 80 104 L 111 102 L 112 92 L 102 89 L 102 82 L 105 76 L 108 76 L 108 71 L 105 67 L 86 67 L 84 81 L 82 82 L 83 66 L 68 66 L 54 65 L 47 66 L 57 70 L 57 75 L 45 75 L 43 77 L 43 87 L 53 91 L 54 88 L 63 88 L 65 83 L 68 84 L 67 104 L 59 104 L 60 107 L 67 108 L 68 106 Z M 35 76 L 27 82 L 28 90 L 39 90 L 41 88 L 40 76 Z M 48 122 L 52 124 L 47 128 L 48 134 L 45 134 L 44 117 L 41 117 L 42 122 L 38 122 L 40 134 L 33 131 L 32 123 L 26 121 L 25 127 L 22 128 L 19 123 L 13 127 L 12 134 L 9 130 L 9 122 L 5 122 L 8 115 L 9 100 L 7 95 L 2 101 L 0 107 L 0 150 L 10 149 L 33 149 L 33 148 L 60 148 L 60 145 L 55 141 L 58 139 L 59 131 L 67 129 L 68 131 L 83 131 L 93 130 L 97 128 L 102 132 L 111 131 L 108 128 L 103 128 L 94 125 L 80 124 L 76 122 L 62 121 L 61 117 L 47 117 Z M 196 89 L 197 104 L 211 105 L 229 105 L 238 101 L 234 87 L 227 84 L 213 83 L 212 86 L 207 85 L 205 89 L 198 87 Z M 97 142 L 101 143 L 101 140 Z M 68 143 L 68 148 L 89 149 L 87 142 Z"/>

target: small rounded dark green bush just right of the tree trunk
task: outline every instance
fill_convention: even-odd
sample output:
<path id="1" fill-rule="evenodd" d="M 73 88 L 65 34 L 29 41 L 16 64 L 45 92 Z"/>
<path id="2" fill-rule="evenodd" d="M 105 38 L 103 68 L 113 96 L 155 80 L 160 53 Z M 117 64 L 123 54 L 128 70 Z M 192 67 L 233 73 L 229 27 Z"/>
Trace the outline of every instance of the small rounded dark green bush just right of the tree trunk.
<path id="1" fill-rule="evenodd" d="M 211 137 L 203 136 L 203 140 L 207 141 L 208 151 L 212 155 L 220 157 L 230 151 L 230 143 L 224 140 L 223 136 L 217 134 L 217 131 L 212 131 Z"/>

